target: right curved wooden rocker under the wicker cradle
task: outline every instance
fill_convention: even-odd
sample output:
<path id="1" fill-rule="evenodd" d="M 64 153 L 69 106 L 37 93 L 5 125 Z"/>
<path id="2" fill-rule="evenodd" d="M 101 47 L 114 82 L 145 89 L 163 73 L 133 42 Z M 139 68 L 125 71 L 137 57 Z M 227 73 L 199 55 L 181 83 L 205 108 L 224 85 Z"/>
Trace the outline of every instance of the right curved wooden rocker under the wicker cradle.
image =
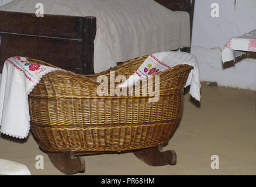
<path id="1" fill-rule="evenodd" d="M 175 151 L 161 151 L 162 146 L 144 148 L 143 150 L 133 151 L 134 155 L 148 165 L 175 165 L 177 163 L 177 155 Z"/>

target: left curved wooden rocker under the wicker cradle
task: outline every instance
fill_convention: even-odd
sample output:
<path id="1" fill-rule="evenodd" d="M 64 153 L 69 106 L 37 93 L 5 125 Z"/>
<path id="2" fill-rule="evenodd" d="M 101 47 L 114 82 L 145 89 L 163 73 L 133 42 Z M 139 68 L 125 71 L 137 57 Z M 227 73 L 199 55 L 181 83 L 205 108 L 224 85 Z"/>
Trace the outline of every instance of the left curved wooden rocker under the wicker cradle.
<path id="1" fill-rule="evenodd" d="M 85 171 L 84 158 L 75 157 L 73 152 L 47 154 L 53 165 L 63 174 L 71 175 Z"/>

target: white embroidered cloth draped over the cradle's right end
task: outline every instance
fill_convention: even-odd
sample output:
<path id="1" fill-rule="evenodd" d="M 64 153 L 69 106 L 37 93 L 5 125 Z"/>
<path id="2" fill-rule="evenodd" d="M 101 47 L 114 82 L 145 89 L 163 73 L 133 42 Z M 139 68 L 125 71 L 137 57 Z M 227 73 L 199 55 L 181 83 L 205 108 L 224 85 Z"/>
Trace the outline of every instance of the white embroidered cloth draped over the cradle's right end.
<path id="1" fill-rule="evenodd" d="M 179 64 L 192 65 L 194 68 L 191 70 L 186 86 L 191 85 L 189 94 L 196 100 L 200 101 L 200 75 L 198 68 L 198 60 L 196 56 L 179 51 L 167 51 L 150 54 L 139 69 L 127 79 L 120 87 L 126 87 L 139 81 L 139 79 L 147 78 L 148 75 L 157 74 L 158 72 L 167 70 Z"/>

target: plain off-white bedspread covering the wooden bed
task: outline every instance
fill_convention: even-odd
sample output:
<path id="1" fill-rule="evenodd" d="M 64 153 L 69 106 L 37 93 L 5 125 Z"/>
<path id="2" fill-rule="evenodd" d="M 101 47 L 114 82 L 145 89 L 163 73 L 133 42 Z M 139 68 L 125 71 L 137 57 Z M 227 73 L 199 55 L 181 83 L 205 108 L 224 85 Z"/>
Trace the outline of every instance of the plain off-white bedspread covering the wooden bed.
<path id="1" fill-rule="evenodd" d="M 14 0 L 2 11 L 36 12 L 38 1 Z M 44 13 L 96 16 L 95 72 L 116 62 L 190 46 L 189 14 L 154 0 L 41 0 Z M 68 55 L 68 54 L 67 54 Z"/>

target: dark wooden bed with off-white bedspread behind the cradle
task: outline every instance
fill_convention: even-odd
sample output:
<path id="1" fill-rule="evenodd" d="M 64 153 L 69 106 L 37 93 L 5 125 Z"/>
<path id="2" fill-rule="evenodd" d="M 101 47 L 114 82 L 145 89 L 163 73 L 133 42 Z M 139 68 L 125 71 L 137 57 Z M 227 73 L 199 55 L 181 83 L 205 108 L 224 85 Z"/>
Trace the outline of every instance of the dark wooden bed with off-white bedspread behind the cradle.
<path id="1" fill-rule="evenodd" d="M 189 50 L 194 4 L 190 0 L 41 3 L 43 18 L 36 17 L 32 0 L 14 0 L 0 7 L 0 72 L 11 56 L 93 74 L 146 54 Z"/>

